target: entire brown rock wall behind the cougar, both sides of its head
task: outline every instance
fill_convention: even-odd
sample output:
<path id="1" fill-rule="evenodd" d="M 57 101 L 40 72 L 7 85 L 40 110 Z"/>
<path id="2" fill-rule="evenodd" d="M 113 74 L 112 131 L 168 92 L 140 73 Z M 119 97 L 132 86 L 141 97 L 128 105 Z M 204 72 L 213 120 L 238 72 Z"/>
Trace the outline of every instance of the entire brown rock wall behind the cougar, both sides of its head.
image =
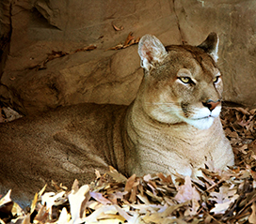
<path id="1" fill-rule="evenodd" d="M 130 32 L 153 34 L 166 45 L 197 45 L 215 31 L 224 99 L 256 106 L 253 0 L 3 0 L 0 6 L 0 102 L 18 112 L 129 104 L 143 76 L 137 46 L 105 50 Z M 97 48 L 77 51 L 89 45 Z"/>

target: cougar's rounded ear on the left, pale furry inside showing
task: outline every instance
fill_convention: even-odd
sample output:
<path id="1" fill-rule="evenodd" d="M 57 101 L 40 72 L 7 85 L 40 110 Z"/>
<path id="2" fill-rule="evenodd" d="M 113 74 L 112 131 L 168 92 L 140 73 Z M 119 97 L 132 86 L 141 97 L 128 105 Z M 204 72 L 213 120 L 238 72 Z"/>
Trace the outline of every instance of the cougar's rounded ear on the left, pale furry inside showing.
<path id="1" fill-rule="evenodd" d="M 141 58 L 141 67 L 146 70 L 153 67 L 155 62 L 161 62 L 168 54 L 160 40 L 152 35 L 141 37 L 137 52 Z"/>

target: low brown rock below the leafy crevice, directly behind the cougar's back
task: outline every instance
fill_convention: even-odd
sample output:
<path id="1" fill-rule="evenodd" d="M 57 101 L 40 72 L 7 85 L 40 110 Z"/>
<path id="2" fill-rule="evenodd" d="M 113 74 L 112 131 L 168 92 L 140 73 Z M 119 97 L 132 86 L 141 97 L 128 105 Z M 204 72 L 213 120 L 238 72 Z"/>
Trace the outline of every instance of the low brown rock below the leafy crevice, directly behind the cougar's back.
<path id="1" fill-rule="evenodd" d="M 12 72 L 9 76 L 13 78 L 5 79 L 9 77 L 6 76 L 2 80 L 13 88 L 13 98 L 16 94 L 22 98 L 23 104 L 16 105 L 16 110 L 24 114 L 82 102 L 129 104 L 136 96 L 143 73 L 136 47 L 99 54 L 77 52 L 50 61 L 46 69 Z M 130 62 L 120 64 L 121 59 Z"/>

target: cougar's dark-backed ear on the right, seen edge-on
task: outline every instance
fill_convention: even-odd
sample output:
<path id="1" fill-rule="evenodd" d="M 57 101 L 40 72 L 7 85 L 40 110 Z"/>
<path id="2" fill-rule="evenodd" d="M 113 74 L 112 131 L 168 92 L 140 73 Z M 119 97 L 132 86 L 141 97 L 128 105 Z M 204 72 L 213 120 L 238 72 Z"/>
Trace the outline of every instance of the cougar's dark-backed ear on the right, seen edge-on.
<path id="1" fill-rule="evenodd" d="M 204 52 L 208 52 L 217 61 L 217 50 L 218 50 L 218 37 L 216 33 L 211 33 L 209 36 L 198 46 Z"/>

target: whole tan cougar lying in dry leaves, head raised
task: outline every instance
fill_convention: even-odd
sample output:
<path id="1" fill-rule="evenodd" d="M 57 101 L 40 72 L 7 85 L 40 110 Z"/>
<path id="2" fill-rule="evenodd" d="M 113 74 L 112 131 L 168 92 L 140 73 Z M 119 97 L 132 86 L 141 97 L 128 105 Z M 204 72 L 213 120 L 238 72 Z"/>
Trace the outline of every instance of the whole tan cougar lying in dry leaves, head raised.
<path id="1" fill-rule="evenodd" d="M 233 164 L 221 127 L 222 78 L 218 38 L 198 47 L 163 44 L 152 35 L 138 44 L 144 79 L 126 106 L 81 104 L 0 125 L 0 194 L 20 202 L 51 180 L 71 185 L 95 169 L 127 175 L 163 172 L 196 176 L 212 160 Z"/>

